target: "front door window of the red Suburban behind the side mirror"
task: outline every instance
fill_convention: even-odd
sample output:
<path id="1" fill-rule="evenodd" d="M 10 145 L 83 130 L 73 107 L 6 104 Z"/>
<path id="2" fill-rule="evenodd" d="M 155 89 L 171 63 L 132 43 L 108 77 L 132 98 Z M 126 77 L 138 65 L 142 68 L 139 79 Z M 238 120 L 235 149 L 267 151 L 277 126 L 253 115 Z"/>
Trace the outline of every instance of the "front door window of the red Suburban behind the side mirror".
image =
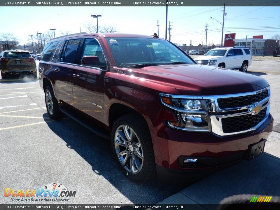
<path id="1" fill-rule="evenodd" d="M 99 60 L 99 63 L 82 64 L 83 66 L 97 67 L 97 68 L 101 68 L 101 69 L 106 68 L 105 57 L 104 57 L 103 51 L 101 49 L 101 46 L 99 45 L 97 40 L 92 39 L 92 38 L 85 39 L 79 64 L 81 64 L 83 56 L 97 56 L 98 60 Z"/>

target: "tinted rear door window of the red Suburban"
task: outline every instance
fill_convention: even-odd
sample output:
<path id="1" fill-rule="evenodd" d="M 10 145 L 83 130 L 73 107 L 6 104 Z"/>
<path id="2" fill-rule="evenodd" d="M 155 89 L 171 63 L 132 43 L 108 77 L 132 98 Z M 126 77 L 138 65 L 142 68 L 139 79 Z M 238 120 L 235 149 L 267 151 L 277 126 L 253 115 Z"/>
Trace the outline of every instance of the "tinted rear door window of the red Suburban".
<path id="1" fill-rule="evenodd" d="M 75 63 L 76 52 L 81 39 L 73 39 L 65 42 L 60 62 Z"/>

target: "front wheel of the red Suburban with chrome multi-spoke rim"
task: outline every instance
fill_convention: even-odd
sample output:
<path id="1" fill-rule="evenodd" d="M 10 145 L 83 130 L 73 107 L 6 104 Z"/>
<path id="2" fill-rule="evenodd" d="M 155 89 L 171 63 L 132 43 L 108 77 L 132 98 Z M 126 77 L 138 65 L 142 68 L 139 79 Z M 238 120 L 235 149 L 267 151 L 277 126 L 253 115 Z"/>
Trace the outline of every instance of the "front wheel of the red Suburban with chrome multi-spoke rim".
<path id="1" fill-rule="evenodd" d="M 111 144 L 118 166 L 129 179 L 144 182 L 155 175 L 153 144 L 144 119 L 133 114 L 118 118 Z"/>

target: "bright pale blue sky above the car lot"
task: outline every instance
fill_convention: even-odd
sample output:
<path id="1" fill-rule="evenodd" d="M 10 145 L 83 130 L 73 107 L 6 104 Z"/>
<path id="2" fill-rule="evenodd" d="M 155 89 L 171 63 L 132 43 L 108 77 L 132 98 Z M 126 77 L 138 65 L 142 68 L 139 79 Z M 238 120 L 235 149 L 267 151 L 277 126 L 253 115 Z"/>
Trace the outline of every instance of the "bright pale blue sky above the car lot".
<path id="1" fill-rule="evenodd" d="M 223 22 L 223 7 L 168 8 L 168 22 L 171 21 L 171 41 L 179 44 L 205 45 L 206 22 L 208 26 L 207 44 L 219 44 Z M 270 38 L 280 34 L 280 7 L 225 7 L 224 34 L 236 33 L 236 38 L 251 38 L 263 35 Z M 12 33 L 20 44 L 28 42 L 28 35 L 46 33 L 55 28 L 56 37 L 60 31 L 71 34 L 86 31 L 85 24 L 96 24 L 91 15 L 102 15 L 98 25 L 113 25 L 119 33 L 152 35 L 157 33 L 165 38 L 166 8 L 159 7 L 0 7 L 0 33 Z M 210 19 L 213 17 L 214 19 Z M 219 23 L 220 22 L 220 23 Z M 43 35 L 43 34 L 42 34 Z M 35 36 L 36 38 L 36 36 Z M 168 35 L 167 35 L 168 39 Z"/>

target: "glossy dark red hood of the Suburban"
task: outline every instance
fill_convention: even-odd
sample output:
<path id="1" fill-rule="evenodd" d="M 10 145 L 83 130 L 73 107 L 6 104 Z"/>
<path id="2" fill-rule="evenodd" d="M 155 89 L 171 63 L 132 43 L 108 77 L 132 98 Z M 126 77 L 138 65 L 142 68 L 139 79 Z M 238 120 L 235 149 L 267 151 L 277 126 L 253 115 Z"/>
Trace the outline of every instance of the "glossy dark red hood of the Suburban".
<path id="1" fill-rule="evenodd" d="M 176 88 L 182 95 L 236 94 L 268 86 L 265 79 L 255 75 L 198 64 L 152 66 L 123 71 L 126 75 L 139 78 L 141 86 L 147 85 L 148 88 L 160 91 L 159 86 L 164 85 Z"/>

